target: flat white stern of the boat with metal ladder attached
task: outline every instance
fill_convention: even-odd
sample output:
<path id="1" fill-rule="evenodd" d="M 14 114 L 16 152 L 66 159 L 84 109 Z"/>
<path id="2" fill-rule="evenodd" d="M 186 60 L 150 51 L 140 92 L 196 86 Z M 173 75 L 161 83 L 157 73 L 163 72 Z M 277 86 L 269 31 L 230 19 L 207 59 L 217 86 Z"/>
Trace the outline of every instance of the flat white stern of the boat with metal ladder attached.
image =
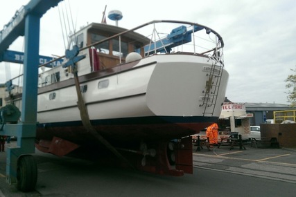
<path id="1" fill-rule="evenodd" d="M 161 56 L 161 55 L 159 55 Z M 213 122 L 220 116 L 228 73 L 208 57 L 167 55 L 157 61 L 147 87 L 147 105 L 155 115 Z M 202 128 L 203 129 L 203 128 Z"/>

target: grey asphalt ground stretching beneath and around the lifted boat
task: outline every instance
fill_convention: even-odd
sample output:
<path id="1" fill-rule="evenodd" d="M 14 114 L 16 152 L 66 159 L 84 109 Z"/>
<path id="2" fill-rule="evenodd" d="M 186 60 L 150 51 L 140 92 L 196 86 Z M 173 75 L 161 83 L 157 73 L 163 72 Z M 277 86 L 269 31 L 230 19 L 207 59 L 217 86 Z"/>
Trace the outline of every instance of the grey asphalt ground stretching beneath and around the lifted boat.
<path id="1" fill-rule="evenodd" d="M 13 145 L 12 142 L 11 145 Z M 6 153 L 0 153 L 0 197 L 37 196 L 295 196 L 296 149 L 193 146 L 193 175 L 157 176 L 58 158 L 36 151 L 36 190 L 23 193 L 5 178 Z M 213 185 L 215 185 L 213 189 Z M 241 187 L 248 189 L 247 192 Z M 243 193 L 241 193 L 243 192 Z M 245 193 L 244 193 L 245 192 Z M 221 195 L 218 195 L 221 196 Z"/>

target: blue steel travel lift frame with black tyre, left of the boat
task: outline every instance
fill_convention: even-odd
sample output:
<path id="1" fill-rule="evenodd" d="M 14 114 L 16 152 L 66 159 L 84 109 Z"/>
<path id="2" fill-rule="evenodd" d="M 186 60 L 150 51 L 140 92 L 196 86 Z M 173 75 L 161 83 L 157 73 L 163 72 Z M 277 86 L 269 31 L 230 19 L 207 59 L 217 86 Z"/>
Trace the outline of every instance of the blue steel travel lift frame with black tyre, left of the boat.
<path id="1" fill-rule="evenodd" d="M 0 32 L 0 62 L 15 59 L 10 57 L 17 57 L 15 60 L 21 61 L 17 56 L 21 54 L 7 49 L 17 37 L 25 38 L 21 113 L 12 105 L 0 109 L 0 135 L 17 136 L 17 147 L 8 147 L 6 153 L 6 182 L 16 183 L 20 191 L 32 191 L 37 182 L 37 163 L 31 153 L 35 153 L 37 123 L 40 18 L 60 1 L 31 0 L 15 13 Z M 12 85 L 12 82 L 9 83 Z M 11 87 L 7 90 L 11 91 Z"/>

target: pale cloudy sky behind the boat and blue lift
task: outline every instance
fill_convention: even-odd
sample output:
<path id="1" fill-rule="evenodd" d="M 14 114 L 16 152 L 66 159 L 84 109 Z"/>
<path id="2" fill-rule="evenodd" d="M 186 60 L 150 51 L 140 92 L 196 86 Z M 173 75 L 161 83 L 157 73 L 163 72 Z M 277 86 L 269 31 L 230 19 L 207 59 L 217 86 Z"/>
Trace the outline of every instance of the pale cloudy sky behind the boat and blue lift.
<path id="1" fill-rule="evenodd" d="M 45 1 L 45 0 L 44 0 Z M 29 0 L 10 0 L 0 6 L 0 30 Z M 122 1 L 66 0 L 60 12 L 71 6 L 78 30 L 101 22 L 103 10 L 120 10 L 119 26 L 134 28 L 148 21 L 170 19 L 208 26 L 224 40 L 225 69 L 229 73 L 226 96 L 232 102 L 289 104 L 285 79 L 296 74 L 295 0 L 189 0 Z M 114 21 L 107 19 L 107 24 Z M 40 21 L 40 55 L 64 55 L 59 8 L 51 8 Z M 23 51 L 20 37 L 10 50 Z M 0 83 L 6 82 L 5 64 L 0 63 Z M 10 75 L 19 75 L 20 66 L 9 64 Z"/>

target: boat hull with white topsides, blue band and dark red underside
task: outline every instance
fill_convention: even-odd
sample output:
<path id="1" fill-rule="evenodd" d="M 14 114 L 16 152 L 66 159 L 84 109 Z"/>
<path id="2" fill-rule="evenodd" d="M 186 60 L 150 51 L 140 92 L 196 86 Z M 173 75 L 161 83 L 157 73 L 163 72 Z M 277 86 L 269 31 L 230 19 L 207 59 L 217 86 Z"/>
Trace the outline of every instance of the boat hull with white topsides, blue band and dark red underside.
<path id="1" fill-rule="evenodd" d="M 211 64 L 194 55 L 155 55 L 139 61 L 131 71 L 88 82 L 85 99 L 94 128 L 110 142 L 172 140 L 198 133 L 220 116 L 228 73 L 223 72 L 216 106 L 204 114 L 202 97 Z M 106 88 L 98 88 L 107 81 Z M 50 100 L 55 93 L 55 99 Z M 89 143 L 83 133 L 75 86 L 38 95 L 37 139 L 53 136 L 78 144 Z M 215 107 L 215 109 L 213 109 Z M 77 133 L 77 135 L 76 135 Z"/>

